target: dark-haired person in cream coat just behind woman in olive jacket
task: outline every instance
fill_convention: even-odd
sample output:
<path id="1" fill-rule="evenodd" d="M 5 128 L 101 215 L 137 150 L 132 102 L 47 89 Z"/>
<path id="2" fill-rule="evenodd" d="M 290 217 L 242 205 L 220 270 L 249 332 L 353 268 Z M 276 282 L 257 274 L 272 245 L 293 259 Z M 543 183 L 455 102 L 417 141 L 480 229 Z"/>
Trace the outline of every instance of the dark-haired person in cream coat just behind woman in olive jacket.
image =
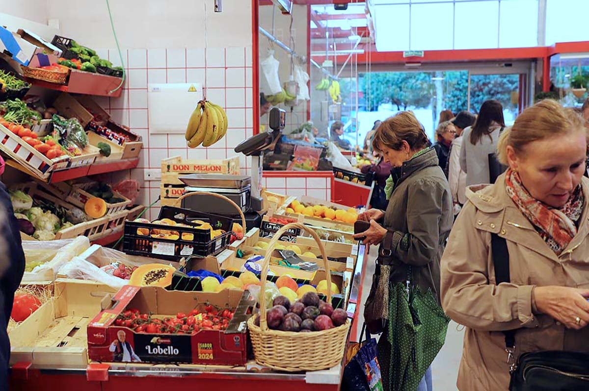
<path id="1" fill-rule="evenodd" d="M 458 215 L 462 205 L 466 202 L 466 173 L 460 167 L 460 151 L 462 148 L 462 133 L 465 128 L 472 126 L 475 116 L 468 111 L 461 111 L 452 120 L 456 129 L 456 137 L 450 146 L 448 157 L 448 184 L 452 191 L 452 202 L 454 203 L 454 215 Z"/>

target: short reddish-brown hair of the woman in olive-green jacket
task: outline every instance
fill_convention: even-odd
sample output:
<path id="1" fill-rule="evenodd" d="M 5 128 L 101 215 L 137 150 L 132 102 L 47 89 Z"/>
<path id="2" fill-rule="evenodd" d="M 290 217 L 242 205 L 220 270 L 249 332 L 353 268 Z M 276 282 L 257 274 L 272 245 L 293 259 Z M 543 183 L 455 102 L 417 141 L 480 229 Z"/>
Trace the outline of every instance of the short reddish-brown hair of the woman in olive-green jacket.
<path id="1" fill-rule="evenodd" d="M 421 123 L 408 111 L 396 113 L 380 124 L 372 139 L 372 149 L 382 152 L 382 148 L 386 146 L 398 151 L 403 141 L 409 144 L 412 151 L 419 151 L 428 145 L 428 136 L 425 135 Z"/>

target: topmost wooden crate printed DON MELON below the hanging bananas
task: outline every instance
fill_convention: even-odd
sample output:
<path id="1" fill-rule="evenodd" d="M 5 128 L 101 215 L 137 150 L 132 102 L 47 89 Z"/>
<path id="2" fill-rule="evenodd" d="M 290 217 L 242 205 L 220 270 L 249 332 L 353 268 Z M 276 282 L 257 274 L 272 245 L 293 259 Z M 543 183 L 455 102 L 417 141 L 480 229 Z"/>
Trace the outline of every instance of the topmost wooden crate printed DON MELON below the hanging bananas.
<path id="1" fill-rule="evenodd" d="M 180 156 L 161 161 L 162 178 L 164 173 L 180 173 L 183 175 L 193 173 L 215 173 L 239 175 L 239 156 L 227 159 L 208 159 L 208 160 L 185 160 Z M 181 175 L 180 175 L 181 176 Z"/>

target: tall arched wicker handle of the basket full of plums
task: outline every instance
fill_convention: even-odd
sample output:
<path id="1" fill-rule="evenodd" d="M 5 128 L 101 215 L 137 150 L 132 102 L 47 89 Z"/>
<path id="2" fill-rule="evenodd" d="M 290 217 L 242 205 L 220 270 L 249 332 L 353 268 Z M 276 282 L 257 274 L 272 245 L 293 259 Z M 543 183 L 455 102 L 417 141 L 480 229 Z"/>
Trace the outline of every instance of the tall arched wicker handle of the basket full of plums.
<path id="1" fill-rule="evenodd" d="M 283 226 L 276 233 L 274 233 L 273 238 L 270 240 L 268 244 L 268 248 L 266 250 L 266 255 L 264 255 L 264 264 L 262 265 L 262 276 L 260 281 L 262 282 L 262 289 L 260 289 L 260 328 L 263 331 L 268 329 L 268 324 L 266 322 L 266 278 L 268 276 L 268 269 L 270 268 L 270 258 L 272 257 L 272 252 L 274 251 L 274 246 L 280 239 L 283 233 L 285 233 L 290 228 L 300 228 L 308 233 L 315 239 L 317 242 L 317 246 L 321 251 L 321 257 L 323 258 L 323 266 L 325 268 L 326 280 L 327 280 L 327 303 L 331 303 L 331 272 L 329 270 L 329 263 L 327 262 L 327 255 L 325 253 L 325 247 L 323 247 L 323 243 L 321 239 L 315 233 L 315 230 L 303 225 L 301 223 L 288 223 L 287 225 Z"/>

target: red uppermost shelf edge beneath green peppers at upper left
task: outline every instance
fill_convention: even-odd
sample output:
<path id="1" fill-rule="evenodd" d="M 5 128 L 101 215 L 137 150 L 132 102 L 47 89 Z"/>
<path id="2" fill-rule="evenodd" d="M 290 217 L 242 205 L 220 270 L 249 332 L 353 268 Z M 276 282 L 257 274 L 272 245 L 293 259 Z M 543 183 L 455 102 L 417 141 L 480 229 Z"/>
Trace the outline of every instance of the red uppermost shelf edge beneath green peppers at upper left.
<path id="1" fill-rule="evenodd" d="M 76 69 L 71 70 L 70 79 L 67 85 L 49 83 L 38 79 L 25 79 L 32 85 L 42 88 L 70 93 L 83 93 L 85 95 L 111 96 L 112 98 L 118 98 L 123 92 L 123 86 L 117 89 L 121 83 L 121 78 L 100 75 L 99 73 L 78 71 Z M 111 92 L 114 89 L 116 89 L 116 91 Z"/>

